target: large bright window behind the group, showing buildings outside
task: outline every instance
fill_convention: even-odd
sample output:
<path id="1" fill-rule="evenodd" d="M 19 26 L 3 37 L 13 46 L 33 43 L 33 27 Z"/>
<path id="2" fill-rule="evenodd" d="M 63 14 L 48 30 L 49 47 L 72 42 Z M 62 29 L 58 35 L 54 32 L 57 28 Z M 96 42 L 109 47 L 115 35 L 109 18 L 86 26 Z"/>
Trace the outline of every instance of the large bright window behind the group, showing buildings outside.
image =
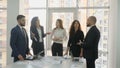
<path id="1" fill-rule="evenodd" d="M 45 32 L 51 31 L 55 26 L 56 19 L 61 18 L 67 33 L 71 22 L 74 19 L 78 19 L 84 34 L 86 34 L 87 17 L 91 15 L 96 16 L 97 27 L 101 32 L 99 59 L 96 61 L 96 68 L 108 68 L 109 0 L 26 0 L 26 4 L 28 4 L 25 9 L 28 16 L 28 25 L 30 25 L 30 21 L 34 16 L 38 16 L 41 25 L 45 28 Z M 51 44 L 47 44 L 50 43 L 49 40 L 49 37 L 45 40 L 47 55 L 51 53 Z"/>

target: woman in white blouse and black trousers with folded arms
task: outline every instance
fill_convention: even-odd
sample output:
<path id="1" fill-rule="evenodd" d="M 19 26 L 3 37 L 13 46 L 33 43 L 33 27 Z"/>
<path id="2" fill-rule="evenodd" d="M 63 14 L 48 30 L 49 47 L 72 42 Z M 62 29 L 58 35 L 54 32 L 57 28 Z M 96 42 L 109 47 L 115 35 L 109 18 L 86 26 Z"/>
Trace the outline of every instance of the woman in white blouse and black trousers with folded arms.
<path id="1" fill-rule="evenodd" d="M 52 56 L 63 56 L 63 40 L 66 40 L 66 31 L 63 27 L 63 21 L 57 19 L 56 27 L 51 34 L 52 44 Z"/>

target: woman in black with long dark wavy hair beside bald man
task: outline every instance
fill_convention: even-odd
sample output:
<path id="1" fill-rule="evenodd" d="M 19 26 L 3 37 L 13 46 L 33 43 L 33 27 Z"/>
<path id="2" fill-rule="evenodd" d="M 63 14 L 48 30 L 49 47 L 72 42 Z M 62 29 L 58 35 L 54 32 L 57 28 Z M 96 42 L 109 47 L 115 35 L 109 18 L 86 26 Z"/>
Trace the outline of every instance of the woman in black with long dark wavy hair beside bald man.
<path id="1" fill-rule="evenodd" d="M 83 49 L 80 47 L 79 42 L 83 41 L 83 39 L 84 34 L 81 30 L 81 25 L 78 20 L 74 20 L 69 31 L 69 40 L 65 54 L 68 54 L 69 51 L 73 57 L 82 56 Z"/>

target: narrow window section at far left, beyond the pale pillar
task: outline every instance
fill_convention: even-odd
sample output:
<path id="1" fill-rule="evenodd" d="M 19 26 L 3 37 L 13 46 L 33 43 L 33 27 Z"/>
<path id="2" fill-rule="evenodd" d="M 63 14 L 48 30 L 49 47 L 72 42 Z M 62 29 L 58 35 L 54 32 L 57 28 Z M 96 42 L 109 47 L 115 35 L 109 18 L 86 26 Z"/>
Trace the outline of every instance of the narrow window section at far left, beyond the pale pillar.
<path id="1" fill-rule="evenodd" d="M 7 0 L 0 0 L 0 68 L 6 67 Z"/>

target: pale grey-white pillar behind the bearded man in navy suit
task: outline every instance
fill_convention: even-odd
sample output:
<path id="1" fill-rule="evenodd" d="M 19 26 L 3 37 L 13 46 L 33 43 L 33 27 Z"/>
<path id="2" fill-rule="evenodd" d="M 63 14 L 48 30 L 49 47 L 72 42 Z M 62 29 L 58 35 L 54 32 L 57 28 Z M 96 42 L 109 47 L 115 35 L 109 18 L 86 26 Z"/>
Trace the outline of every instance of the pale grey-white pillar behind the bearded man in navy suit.
<path id="1" fill-rule="evenodd" d="M 16 17 L 18 14 L 23 14 L 23 6 L 21 6 L 24 0 L 8 0 L 7 5 L 7 64 L 13 62 L 11 58 L 10 48 L 10 31 L 17 25 Z M 20 8 L 22 7 L 22 8 Z"/>

